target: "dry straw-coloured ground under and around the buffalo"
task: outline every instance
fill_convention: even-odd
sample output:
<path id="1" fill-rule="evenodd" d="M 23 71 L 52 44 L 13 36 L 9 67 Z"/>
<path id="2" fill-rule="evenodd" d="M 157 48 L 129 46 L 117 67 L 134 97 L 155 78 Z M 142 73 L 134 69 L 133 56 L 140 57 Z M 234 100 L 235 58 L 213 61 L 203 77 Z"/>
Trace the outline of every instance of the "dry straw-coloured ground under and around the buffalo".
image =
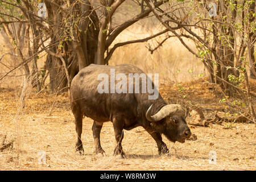
<path id="1" fill-rule="evenodd" d="M 180 86 L 184 86 L 183 92 L 178 92 Z M 192 82 L 187 87 L 161 86 L 159 90 L 168 102 L 176 103 L 185 94 L 186 99 L 210 103 L 209 106 L 219 100 L 208 85 L 201 82 Z M 13 149 L 0 151 L 0 170 L 256 169 L 255 124 L 233 123 L 229 129 L 224 129 L 228 123 L 210 124 L 209 127 L 189 125 L 197 140 L 173 144 L 164 138 L 171 153 L 168 156 L 157 155 L 155 141 L 142 127 L 137 127 L 125 131 L 122 144 L 127 156 L 120 160 L 112 156 L 115 146 L 112 123 L 105 123 L 101 132 L 101 144 L 107 156 L 95 156 L 91 130 L 93 121 L 85 118 L 82 132 L 85 155 L 79 156 L 75 154 L 76 132 L 68 94 L 56 96 L 55 106 L 49 115 L 55 95 L 32 92 L 17 118 L 19 94 L 20 90 L 0 89 L 0 142 L 4 135 L 7 136 L 6 143 L 15 139 Z M 46 152 L 46 165 L 38 164 L 39 151 Z M 216 151 L 216 164 L 209 164 L 210 151 Z"/>

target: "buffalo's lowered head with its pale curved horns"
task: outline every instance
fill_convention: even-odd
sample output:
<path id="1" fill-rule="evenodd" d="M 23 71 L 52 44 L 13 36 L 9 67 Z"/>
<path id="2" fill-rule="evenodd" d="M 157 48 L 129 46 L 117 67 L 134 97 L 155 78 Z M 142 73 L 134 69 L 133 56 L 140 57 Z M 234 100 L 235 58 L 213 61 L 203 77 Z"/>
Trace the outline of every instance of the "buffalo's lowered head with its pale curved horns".
<path id="1" fill-rule="evenodd" d="M 191 136 L 191 131 L 185 121 L 185 110 L 178 104 L 169 104 L 154 115 L 150 115 L 151 107 L 148 108 L 146 118 L 151 126 L 159 133 L 164 134 L 172 142 L 184 143 Z"/>

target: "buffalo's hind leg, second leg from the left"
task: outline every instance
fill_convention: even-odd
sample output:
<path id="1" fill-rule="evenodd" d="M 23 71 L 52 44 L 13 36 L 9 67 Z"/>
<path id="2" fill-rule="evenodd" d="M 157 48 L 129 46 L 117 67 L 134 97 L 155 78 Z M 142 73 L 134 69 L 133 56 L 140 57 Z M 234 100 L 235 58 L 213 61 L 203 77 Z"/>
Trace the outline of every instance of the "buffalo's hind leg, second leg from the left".
<path id="1" fill-rule="evenodd" d="M 95 143 L 95 153 L 97 154 L 105 154 L 105 151 L 101 148 L 101 141 L 100 141 L 100 134 L 102 129 L 103 123 L 99 123 L 97 121 L 93 122 L 92 131 L 93 131 L 93 138 Z"/>

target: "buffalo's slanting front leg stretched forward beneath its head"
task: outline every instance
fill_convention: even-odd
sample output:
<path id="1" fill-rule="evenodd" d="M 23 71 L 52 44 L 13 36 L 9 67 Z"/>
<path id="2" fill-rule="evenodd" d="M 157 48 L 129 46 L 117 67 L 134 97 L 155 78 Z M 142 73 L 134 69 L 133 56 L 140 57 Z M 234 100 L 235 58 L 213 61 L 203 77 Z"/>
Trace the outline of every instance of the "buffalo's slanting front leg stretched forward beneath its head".
<path id="1" fill-rule="evenodd" d="M 154 138 L 158 146 L 158 154 L 159 155 L 168 154 L 169 150 L 167 148 L 166 143 L 163 142 L 161 134 L 156 132 L 154 129 L 152 129 L 151 126 L 144 127 L 144 129 L 151 135 L 152 138 Z"/>

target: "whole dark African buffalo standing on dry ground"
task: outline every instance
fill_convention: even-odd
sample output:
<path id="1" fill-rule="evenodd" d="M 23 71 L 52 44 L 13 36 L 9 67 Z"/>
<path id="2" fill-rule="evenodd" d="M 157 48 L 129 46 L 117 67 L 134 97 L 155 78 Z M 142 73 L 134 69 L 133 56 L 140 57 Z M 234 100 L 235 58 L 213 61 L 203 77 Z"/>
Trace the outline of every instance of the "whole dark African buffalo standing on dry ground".
<path id="1" fill-rule="evenodd" d="M 120 157 L 125 155 L 121 145 L 123 129 L 131 130 L 134 127 L 142 126 L 155 139 L 159 155 L 168 153 L 168 148 L 162 141 L 162 134 L 172 142 L 181 143 L 184 143 L 185 139 L 191 136 L 191 131 L 185 121 L 183 107 L 177 104 L 167 105 L 160 94 L 158 98 L 150 100 L 148 96 L 152 95 L 152 92 L 99 93 L 98 85 L 101 80 L 98 79 L 98 76 L 102 73 L 110 76 L 112 70 L 115 71 L 116 75 L 121 73 L 127 77 L 130 73 L 145 74 L 141 69 L 130 64 L 115 66 L 90 64 L 81 69 L 73 78 L 70 88 L 71 108 L 75 116 L 77 132 L 76 151 L 79 151 L 80 154 L 84 152 L 81 141 L 82 118 L 84 116 L 94 120 L 92 131 L 96 154 L 105 153 L 100 144 L 100 132 L 103 123 L 108 121 L 113 123 L 117 142 L 114 155 Z M 110 81 L 111 79 L 108 80 L 107 85 L 111 84 Z M 136 83 L 133 84 L 135 88 Z M 152 87 L 155 87 L 154 83 L 151 84 Z M 142 89 L 142 81 L 139 81 L 139 88 Z M 111 88 L 106 90 L 109 91 Z"/>

